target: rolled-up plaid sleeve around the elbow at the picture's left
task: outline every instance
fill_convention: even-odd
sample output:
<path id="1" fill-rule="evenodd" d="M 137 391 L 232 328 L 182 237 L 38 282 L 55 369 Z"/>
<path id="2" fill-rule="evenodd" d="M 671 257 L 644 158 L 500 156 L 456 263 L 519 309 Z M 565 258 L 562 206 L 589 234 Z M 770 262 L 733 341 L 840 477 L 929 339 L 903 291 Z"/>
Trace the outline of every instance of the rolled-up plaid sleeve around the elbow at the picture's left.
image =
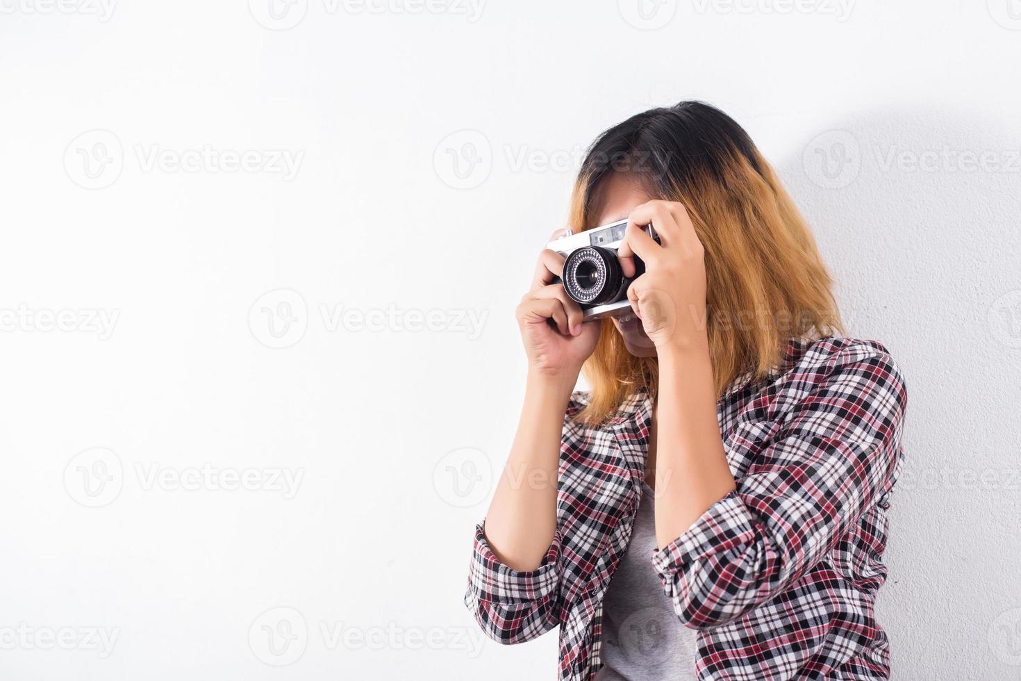
<path id="1" fill-rule="evenodd" d="M 496 557 L 486 540 L 484 526 L 478 525 L 465 604 L 493 640 L 500 643 L 531 640 L 558 622 L 560 565 L 560 530 L 539 567 L 519 572 Z"/>

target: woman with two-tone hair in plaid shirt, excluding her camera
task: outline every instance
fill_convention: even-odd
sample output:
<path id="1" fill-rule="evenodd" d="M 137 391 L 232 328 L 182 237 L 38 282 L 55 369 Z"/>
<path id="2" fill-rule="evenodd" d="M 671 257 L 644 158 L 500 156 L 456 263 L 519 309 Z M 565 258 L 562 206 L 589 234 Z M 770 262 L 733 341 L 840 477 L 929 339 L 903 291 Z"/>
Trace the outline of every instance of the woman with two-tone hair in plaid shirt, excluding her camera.
<path id="1" fill-rule="evenodd" d="M 571 225 L 623 218 L 629 314 L 583 322 L 551 250 L 518 307 L 525 404 L 466 603 L 503 643 L 558 625 L 561 679 L 888 678 L 896 364 L 838 335 L 808 227 L 720 110 L 596 140 Z"/>

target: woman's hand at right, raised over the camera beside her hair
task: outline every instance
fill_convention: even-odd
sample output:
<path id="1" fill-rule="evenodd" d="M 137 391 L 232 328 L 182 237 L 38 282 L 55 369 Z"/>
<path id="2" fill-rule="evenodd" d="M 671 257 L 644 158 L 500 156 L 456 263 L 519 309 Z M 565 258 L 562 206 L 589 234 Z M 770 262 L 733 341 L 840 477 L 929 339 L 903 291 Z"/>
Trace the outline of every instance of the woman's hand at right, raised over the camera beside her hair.
<path id="1" fill-rule="evenodd" d="M 657 243 L 644 227 L 651 225 Z M 628 288 L 628 299 L 657 352 L 701 346 L 706 331 L 706 259 L 685 207 L 676 201 L 648 201 L 628 215 L 617 252 L 624 274 L 634 276 L 634 256 L 645 274 Z"/>

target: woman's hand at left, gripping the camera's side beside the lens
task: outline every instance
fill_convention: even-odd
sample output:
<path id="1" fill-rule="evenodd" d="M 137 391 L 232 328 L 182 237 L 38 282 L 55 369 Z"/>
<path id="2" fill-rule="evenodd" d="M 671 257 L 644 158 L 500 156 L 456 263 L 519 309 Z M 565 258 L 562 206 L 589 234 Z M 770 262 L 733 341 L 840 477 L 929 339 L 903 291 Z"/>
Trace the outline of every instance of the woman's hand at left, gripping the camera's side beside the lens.
<path id="1" fill-rule="evenodd" d="M 554 233 L 552 238 L 564 236 Z M 544 249 L 539 253 L 532 288 L 518 305 L 529 372 L 544 378 L 574 381 L 599 340 L 600 323 L 582 322 L 582 309 L 553 280 L 564 269 L 564 256 Z"/>

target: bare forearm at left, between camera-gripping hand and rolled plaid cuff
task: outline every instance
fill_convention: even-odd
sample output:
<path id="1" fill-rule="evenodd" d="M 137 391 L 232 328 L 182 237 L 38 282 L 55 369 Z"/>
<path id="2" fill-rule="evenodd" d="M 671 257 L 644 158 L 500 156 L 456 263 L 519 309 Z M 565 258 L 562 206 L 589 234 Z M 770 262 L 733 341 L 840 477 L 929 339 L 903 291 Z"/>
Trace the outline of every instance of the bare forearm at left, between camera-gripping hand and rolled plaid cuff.
<path id="1" fill-rule="evenodd" d="M 490 548 L 513 570 L 538 568 L 556 530 L 561 435 L 576 378 L 528 377 L 518 432 L 485 523 Z"/>

